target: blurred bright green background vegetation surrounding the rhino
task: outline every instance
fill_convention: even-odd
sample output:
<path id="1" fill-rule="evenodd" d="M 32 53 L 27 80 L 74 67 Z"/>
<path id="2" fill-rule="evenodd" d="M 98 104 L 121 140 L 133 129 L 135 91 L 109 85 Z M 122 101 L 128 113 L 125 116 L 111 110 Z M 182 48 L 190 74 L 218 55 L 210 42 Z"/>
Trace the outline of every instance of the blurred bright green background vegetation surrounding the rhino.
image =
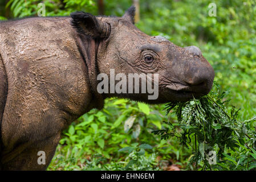
<path id="1" fill-rule="evenodd" d="M 96 0 L 10 0 L 0 2 L 0 19 L 36 16 L 40 2 L 46 6 L 46 16 L 68 16 L 73 11 L 97 15 L 99 11 Z M 256 2 L 216 0 L 216 17 L 208 15 L 210 3 L 140 0 L 136 26 L 148 35 L 165 36 L 177 46 L 200 47 L 216 72 L 214 81 L 220 90 L 229 91 L 224 100 L 241 108 L 239 119 L 252 118 L 256 114 Z M 131 5 L 132 1 L 104 1 L 104 13 L 121 16 Z M 170 111 L 166 116 L 164 107 L 106 100 L 103 110 L 91 110 L 63 132 L 48 169 L 158 170 L 172 164 L 200 169 L 188 165 L 191 148 L 182 147 L 177 138 L 162 140 L 151 133 L 162 129 L 164 120 L 177 123 L 176 115 Z"/>

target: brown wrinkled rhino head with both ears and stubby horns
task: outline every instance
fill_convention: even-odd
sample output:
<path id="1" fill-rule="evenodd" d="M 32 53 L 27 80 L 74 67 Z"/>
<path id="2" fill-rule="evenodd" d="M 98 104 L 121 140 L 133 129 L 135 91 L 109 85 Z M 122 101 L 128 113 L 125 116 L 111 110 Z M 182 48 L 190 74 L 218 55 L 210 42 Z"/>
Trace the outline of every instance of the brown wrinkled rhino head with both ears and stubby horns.
<path id="1" fill-rule="evenodd" d="M 121 97 L 148 104 L 186 101 L 208 94 L 213 85 L 214 71 L 200 49 L 196 46 L 178 47 L 162 36 L 144 34 L 135 27 L 134 15 L 133 6 L 122 17 L 96 17 L 83 12 L 71 14 L 72 26 L 79 34 L 79 47 L 86 55 L 94 94 L 101 100 Z M 90 51 L 86 48 L 88 44 L 94 45 Z M 122 80 L 122 76 L 128 77 L 129 73 L 157 73 L 159 95 L 149 100 L 149 93 L 111 92 L 111 84 L 107 86 L 107 92 L 97 92 L 97 75 L 105 73 L 109 78 L 111 69 L 116 75 L 121 74 Z"/>

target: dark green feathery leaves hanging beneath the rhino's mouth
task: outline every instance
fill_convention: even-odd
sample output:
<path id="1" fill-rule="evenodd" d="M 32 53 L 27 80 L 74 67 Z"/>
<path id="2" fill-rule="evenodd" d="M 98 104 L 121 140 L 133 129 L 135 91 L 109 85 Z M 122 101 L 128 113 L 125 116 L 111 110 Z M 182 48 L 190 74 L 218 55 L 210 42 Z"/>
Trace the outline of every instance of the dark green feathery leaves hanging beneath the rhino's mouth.
<path id="1" fill-rule="evenodd" d="M 254 169 L 256 131 L 252 124 L 256 117 L 246 121 L 239 121 L 238 111 L 234 106 L 226 107 L 229 102 L 224 101 L 227 93 L 210 92 L 208 96 L 187 102 L 170 103 L 166 109 L 169 113 L 174 109 L 178 122 L 165 122 L 166 129 L 153 131 L 162 138 L 177 137 L 185 147 L 191 147 L 193 164 L 202 166 L 199 169 Z M 229 110 L 229 112 L 228 112 Z M 175 125 L 175 127 L 174 127 Z M 177 131 L 182 129 L 182 131 Z M 192 143 L 194 137 L 194 144 Z M 209 163 L 210 151 L 217 155 L 217 165 Z M 227 154 L 226 151 L 231 151 Z M 211 154 L 212 155 L 212 154 Z M 241 158 L 242 157 L 242 158 Z"/>

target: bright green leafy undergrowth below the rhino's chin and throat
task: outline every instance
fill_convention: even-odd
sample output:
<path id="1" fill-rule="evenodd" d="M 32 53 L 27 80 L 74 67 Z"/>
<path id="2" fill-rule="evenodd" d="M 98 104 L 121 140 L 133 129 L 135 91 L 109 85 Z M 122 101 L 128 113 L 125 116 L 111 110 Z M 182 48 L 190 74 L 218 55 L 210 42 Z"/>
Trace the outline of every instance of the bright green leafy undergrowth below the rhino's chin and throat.
<path id="1" fill-rule="evenodd" d="M 103 110 L 91 110 L 64 131 L 48 169 L 156 169 L 152 164 L 161 149 L 153 150 L 150 144 L 161 141 L 151 131 L 158 128 L 156 125 L 161 126 L 163 114 L 164 111 L 159 113 L 151 106 L 128 100 L 105 101 Z"/>

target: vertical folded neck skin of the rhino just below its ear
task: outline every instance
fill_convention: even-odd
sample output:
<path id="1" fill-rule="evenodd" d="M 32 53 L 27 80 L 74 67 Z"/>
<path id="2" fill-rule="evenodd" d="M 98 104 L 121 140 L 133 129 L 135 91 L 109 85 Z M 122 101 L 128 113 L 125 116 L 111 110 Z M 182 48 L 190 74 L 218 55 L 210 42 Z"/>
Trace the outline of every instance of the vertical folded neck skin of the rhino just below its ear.
<path id="1" fill-rule="evenodd" d="M 92 39 L 90 36 L 82 34 L 77 34 L 76 37 L 78 40 L 77 43 L 79 51 L 88 69 L 88 78 L 92 93 L 91 104 L 93 108 L 100 110 L 104 106 L 104 98 L 99 92 L 97 92 L 97 75 L 99 74 L 99 69 L 97 68 L 96 59 L 99 48 L 99 40 Z"/>

